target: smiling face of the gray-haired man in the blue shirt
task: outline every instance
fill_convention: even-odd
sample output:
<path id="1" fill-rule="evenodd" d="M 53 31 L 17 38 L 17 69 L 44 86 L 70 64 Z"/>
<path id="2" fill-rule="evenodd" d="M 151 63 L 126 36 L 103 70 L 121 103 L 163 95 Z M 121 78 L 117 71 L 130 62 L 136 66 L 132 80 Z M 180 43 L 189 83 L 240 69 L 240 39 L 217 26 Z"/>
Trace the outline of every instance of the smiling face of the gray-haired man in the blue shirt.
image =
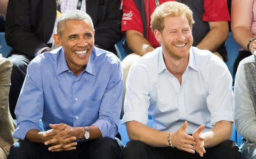
<path id="1" fill-rule="evenodd" d="M 54 35 L 55 43 L 62 46 L 68 68 L 77 76 L 85 69 L 94 45 L 94 30 L 90 22 L 69 20 L 61 35 Z"/>

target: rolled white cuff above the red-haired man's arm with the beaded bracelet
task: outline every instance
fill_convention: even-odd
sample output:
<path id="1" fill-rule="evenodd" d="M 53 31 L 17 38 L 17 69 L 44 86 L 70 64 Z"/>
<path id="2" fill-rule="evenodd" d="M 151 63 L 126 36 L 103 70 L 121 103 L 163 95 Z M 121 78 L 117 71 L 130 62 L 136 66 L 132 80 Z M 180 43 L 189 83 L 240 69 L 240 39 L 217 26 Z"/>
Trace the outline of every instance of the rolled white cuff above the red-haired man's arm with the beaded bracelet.
<path id="1" fill-rule="evenodd" d="M 124 124 L 129 121 L 138 121 L 146 125 L 148 122 L 148 114 L 140 112 L 125 112 L 122 123 Z"/>

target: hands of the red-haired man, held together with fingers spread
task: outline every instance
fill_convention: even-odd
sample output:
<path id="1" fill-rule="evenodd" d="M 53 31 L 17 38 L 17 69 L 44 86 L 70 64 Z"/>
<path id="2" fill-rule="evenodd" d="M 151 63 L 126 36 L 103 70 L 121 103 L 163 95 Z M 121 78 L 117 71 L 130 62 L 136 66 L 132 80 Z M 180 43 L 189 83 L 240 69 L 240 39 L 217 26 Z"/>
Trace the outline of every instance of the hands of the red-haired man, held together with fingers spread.
<path id="1" fill-rule="evenodd" d="M 172 145 L 178 149 L 185 150 L 189 153 L 197 152 L 201 157 L 206 153 L 204 149 L 204 136 L 202 131 L 204 130 L 204 124 L 198 127 L 193 135 L 190 136 L 186 133 L 186 128 L 188 127 L 188 122 L 185 121 L 184 124 L 176 132 L 172 133 Z"/>

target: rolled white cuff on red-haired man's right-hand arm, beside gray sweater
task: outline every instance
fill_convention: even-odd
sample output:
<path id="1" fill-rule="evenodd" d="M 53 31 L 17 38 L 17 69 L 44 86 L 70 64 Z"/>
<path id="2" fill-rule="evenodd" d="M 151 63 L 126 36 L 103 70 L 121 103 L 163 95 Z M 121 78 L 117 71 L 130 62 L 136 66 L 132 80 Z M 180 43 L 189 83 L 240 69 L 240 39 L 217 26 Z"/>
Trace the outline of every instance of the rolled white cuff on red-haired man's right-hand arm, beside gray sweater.
<path id="1" fill-rule="evenodd" d="M 221 120 L 234 122 L 235 121 L 234 116 L 235 115 L 233 111 L 221 111 L 221 112 L 214 113 L 211 116 L 211 125 L 214 127 L 215 124 Z"/>

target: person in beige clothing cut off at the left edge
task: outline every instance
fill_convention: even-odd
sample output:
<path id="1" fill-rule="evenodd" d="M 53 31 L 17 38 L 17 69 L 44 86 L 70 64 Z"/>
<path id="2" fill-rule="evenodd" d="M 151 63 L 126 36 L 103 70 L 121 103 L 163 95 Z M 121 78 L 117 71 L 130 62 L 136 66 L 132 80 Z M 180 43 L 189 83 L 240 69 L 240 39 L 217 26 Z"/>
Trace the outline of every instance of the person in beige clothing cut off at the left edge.
<path id="1" fill-rule="evenodd" d="M 16 123 L 9 111 L 8 95 L 11 86 L 12 63 L 0 54 L 0 159 L 6 159 L 13 142 Z"/>

